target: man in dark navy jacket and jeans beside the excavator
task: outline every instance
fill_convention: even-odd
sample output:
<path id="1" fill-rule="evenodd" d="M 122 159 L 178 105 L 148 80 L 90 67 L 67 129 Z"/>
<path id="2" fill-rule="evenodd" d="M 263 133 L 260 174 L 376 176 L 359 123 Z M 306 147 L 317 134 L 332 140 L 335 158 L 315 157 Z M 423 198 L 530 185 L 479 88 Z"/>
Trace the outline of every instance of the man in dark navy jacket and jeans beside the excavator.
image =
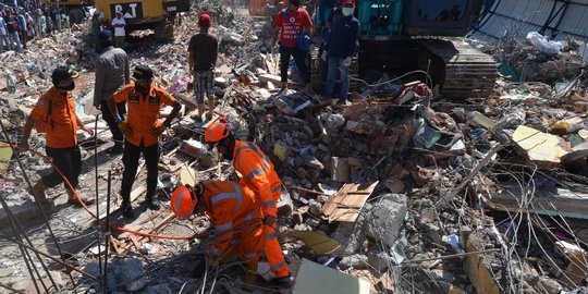
<path id="1" fill-rule="evenodd" d="M 359 21 L 353 16 L 355 0 L 343 0 L 343 17 L 333 23 L 331 36 L 323 54 L 328 59 L 327 86 L 324 97 L 332 99 L 336 76 L 341 77 L 339 103 L 345 103 L 350 91 L 350 65 L 359 48 Z"/>

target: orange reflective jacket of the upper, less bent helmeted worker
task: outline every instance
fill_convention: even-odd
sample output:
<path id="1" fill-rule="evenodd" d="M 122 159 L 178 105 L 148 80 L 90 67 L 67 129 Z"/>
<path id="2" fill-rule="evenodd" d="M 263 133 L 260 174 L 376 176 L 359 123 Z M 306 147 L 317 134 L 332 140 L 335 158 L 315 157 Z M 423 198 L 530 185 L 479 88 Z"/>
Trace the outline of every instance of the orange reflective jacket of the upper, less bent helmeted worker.
<path id="1" fill-rule="evenodd" d="M 237 139 L 233 154 L 233 167 L 242 175 L 240 183 L 259 196 L 264 216 L 277 217 L 277 201 L 282 192 L 282 182 L 269 158 L 257 145 Z"/>

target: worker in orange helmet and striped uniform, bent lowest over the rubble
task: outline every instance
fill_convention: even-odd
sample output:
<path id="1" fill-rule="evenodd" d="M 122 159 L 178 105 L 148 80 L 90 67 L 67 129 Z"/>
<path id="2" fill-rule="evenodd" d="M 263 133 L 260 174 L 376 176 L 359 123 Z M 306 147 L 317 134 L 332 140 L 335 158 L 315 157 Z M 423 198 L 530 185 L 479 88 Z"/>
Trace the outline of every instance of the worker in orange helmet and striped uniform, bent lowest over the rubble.
<path id="1" fill-rule="evenodd" d="M 208 245 L 209 266 L 237 256 L 250 273 L 264 247 L 261 212 L 255 193 L 235 182 L 209 181 L 181 186 L 172 193 L 172 211 L 181 218 L 203 213 L 210 218 L 215 242 Z"/>

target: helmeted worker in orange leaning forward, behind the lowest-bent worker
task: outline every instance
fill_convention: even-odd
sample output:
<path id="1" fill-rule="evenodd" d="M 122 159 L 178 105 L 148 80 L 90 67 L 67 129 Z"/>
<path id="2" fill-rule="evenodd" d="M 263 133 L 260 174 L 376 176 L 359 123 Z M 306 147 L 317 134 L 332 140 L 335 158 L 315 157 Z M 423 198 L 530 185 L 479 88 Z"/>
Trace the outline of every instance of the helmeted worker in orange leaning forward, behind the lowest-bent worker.
<path id="1" fill-rule="evenodd" d="M 206 128 L 205 143 L 232 161 L 242 176 L 240 184 L 255 192 L 264 216 L 266 258 L 277 277 L 272 282 L 281 287 L 290 287 L 287 264 L 275 237 L 277 205 L 282 195 L 282 182 L 273 170 L 273 163 L 257 145 L 235 139 L 224 121 L 215 122 Z"/>

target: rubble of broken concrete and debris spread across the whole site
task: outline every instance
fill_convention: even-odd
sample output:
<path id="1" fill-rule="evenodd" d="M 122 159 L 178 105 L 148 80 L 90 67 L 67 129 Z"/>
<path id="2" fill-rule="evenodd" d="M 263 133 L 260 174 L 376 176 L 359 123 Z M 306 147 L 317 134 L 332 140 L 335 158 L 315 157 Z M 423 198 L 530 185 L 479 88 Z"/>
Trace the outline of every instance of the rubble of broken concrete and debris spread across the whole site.
<path id="1" fill-rule="evenodd" d="M 493 48 L 526 82 L 514 74 L 500 78 L 483 103 L 441 99 L 421 81 L 381 77 L 378 88 L 354 93 L 347 105 L 331 105 L 295 90 L 295 82 L 278 93 L 267 23 L 245 25 L 252 21 L 225 2 L 198 4 L 195 11 L 210 13 L 218 24 L 216 115 L 228 119 L 236 137 L 264 149 L 285 187 L 278 205 L 280 241 L 291 264 L 314 260 L 368 281 L 371 293 L 587 291 L 588 79 L 572 42 L 571 50 L 549 59 L 526 40 Z M 229 164 L 203 144 L 203 125 L 191 119 L 185 68 L 196 15 L 183 20 L 173 44 L 139 41 L 130 52 L 133 64 L 150 65 L 158 82 L 186 105 L 163 136 L 161 197 L 169 198 L 175 184 L 233 179 Z M 7 120 L 12 128 L 21 125 L 14 118 L 24 117 L 48 87 L 47 72 L 58 63 L 68 59 L 91 68 L 81 33 L 59 38 L 68 41 L 37 40 L 29 46 L 39 50 L 0 56 L 12 64 L 0 73 L 0 90 L 9 93 L 0 107 L 13 115 Z M 556 65 L 544 68 L 550 64 Z M 88 76 L 81 79 L 79 101 L 90 94 Z M 32 146 L 38 149 L 42 138 L 37 140 Z M 33 169 L 46 167 L 23 157 Z M 9 171 L 2 176 L 12 177 L 3 179 L 15 179 L 16 168 Z M 113 176 L 120 177 L 120 167 Z M 147 216 L 131 228 L 194 233 L 184 221 L 162 215 L 168 213 Z M 196 266 L 186 248 L 197 244 L 125 233 L 118 238 L 109 241 L 118 256 L 128 257 L 130 250 L 149 262 L 111 262 L 111 286 L 176 293 L 194 281 L 189 273 Z M 126 241 L 124 250 L 117 249 Z M 95 260 L 81 260 L 98 275 Z M 191 270 L 182 274 L 185 268 Z M 160 279 L 148 279 L 151 274 Z"/>

